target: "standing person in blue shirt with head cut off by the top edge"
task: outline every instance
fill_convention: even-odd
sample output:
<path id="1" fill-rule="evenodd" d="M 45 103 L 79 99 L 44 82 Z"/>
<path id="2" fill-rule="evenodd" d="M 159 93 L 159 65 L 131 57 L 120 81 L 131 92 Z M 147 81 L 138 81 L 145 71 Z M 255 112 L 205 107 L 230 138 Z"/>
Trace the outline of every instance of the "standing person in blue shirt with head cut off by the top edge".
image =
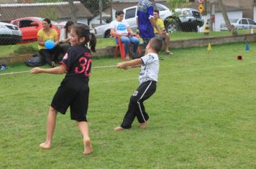
<path id="1" fill-rule="evenodd" d="M 137 8 L 137 26 L 142 37 L 145 47 L 150 39 L 155 37 L 154 28 L 158 34 L 162 34 L 154 19 L 153 4 L 150 0 L 140 0 Z"/>

